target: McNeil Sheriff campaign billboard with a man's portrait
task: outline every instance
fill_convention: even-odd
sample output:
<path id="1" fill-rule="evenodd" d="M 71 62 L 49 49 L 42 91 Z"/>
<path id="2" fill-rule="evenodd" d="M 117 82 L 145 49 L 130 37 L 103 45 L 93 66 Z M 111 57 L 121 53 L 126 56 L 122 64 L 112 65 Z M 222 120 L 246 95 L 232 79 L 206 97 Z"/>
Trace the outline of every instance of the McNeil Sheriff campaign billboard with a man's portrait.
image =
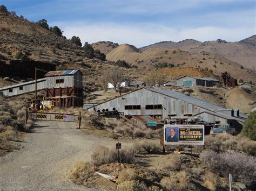
<path id="1" fill-rule="evenodd" d="M 204 145 L 204 125 L 165 125 L 165 145 Z"/>

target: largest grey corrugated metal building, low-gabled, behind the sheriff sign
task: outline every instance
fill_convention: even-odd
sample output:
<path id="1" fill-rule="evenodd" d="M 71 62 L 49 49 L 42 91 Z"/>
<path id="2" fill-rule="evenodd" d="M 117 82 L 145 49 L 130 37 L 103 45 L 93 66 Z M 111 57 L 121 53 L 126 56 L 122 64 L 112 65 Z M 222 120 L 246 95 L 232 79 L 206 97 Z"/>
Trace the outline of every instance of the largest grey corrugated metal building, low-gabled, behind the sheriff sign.
<path id="1" fill-rule="evenodd" d="M 216 112 L 221 115 L 223 114 L 221 111 L 227 111 L 227 109 L 221 108 L 218 105 L 186 96 L 178 93 L 177 91 L 165 91 L 148 88 L 132 91 L 131 93 L 113 98 L 112 100 L 88 108 L 88 110 L 102 111 L 103 109 L 112 110 L 112 108 L 116 108 L 116 110 L 119 112 L 124 112 L 125 116 L 148 115 L 160 120 L 173 116 L 194 116 L 199 114 L 202 114 L 201 116 L 204 117 L 204 111 Z M 208 118 L 206 119 L 208 120 Z M 245 117 L 233 116 L 232 119 L 237 119 L 241 126 L 245 120 Z M 213 119 L 210 119 L 207 122 L 215 123 Z M 226 120 L 226 122 L 228 122 L 228 120 Z M 241 128 L 240 126 L 238 129 Z"/>

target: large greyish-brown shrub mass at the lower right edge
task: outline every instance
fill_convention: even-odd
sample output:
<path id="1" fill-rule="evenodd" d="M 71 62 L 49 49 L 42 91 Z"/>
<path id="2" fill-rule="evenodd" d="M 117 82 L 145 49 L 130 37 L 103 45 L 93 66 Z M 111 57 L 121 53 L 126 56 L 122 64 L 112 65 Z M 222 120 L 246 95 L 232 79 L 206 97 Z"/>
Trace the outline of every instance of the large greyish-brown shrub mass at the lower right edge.
<path id="1" fill-rule="evenodd" d="M 220 176 L 228 177 L 231 173 L 234 181 L 239 181 L 247 186 L 253 186 L 256 178 L 256 159 L 243 153 L 227 151 L 217 153 L 214 151 L 203 151 L 201 160 L 211 171 Z M 254 185 L 255 186 L 255 185 Z"/>

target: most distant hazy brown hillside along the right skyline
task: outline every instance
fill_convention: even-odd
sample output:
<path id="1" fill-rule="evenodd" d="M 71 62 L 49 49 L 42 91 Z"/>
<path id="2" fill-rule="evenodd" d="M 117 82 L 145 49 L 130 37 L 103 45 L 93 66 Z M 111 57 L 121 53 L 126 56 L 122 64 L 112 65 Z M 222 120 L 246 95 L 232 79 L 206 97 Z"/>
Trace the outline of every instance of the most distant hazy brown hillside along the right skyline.
<path id="1" fill-rule="evenodd" d="M 238 62 L 240 65 L 247 68 L 255 69 L 256 60 L 256 36 L 252 36 L 241 40 L 239 42 L 230 43 L 225 40 L 206 41 L 201 43 L 200 41 L 193 39 L 186 39 L 175 43 L 173 41 L 164 41 L 153 45 L 139 48 L 144 51 L 150 48 L 179 48 L 182 51 L 188 51 L 190 53 L 200 53 L 205 51 L 207 53 L 214 53 L 233 61 Z"/>

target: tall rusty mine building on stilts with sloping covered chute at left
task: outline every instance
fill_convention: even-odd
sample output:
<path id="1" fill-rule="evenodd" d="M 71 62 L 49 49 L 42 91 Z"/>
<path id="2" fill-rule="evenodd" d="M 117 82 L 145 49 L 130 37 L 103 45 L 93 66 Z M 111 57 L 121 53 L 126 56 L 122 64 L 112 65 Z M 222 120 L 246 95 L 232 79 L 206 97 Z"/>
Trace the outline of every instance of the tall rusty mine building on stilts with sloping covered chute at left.
<path id="1" fill-rule="evenodd" d="M 37 90 L 58 107 L 83 107 L 83 74 L 80 70 L 51 71 L 37 80 Z M 4 97 L 35 92 L 35 80 L 0 88 Z"/>

